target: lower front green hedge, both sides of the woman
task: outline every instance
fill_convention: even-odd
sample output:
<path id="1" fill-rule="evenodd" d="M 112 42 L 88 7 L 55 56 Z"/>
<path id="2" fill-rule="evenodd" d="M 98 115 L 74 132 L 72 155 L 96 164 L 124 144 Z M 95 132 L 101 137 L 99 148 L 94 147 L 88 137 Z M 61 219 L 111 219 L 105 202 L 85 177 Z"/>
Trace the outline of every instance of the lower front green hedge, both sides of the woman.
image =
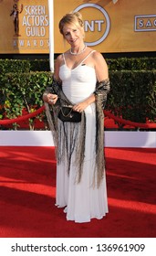
<path id="1" fill-rule="evenodd" d="M 107 110 L 133 122 L 145 123 L 147 117 L 156 122 L 156 70 L 109 71 L 109 78 Z M 1 77 L 0 118 L 6 114 L 12 119 L 23 109 L 33 112 L 42 106 L 42 94 L 51 81 L 51 72 L 6 73 Z M 46 119 L 43 114 L 38 118 Z M 34 119 L 29 128 L 34 129 Z"/>

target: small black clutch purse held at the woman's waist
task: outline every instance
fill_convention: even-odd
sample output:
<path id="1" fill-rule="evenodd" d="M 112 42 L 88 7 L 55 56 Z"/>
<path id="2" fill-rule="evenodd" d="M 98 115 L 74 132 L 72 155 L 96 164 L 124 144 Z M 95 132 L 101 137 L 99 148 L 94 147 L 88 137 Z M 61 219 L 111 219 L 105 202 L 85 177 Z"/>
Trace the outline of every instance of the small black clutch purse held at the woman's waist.
<path id="1" fill-rule="evenodd" d="M 62 122 L 73 122 L 79 123 L 81 121 L 81 112 L 75 112 L 72 109 L 72 106 L 62 106 L 58 112 L 57 117 Z"/>

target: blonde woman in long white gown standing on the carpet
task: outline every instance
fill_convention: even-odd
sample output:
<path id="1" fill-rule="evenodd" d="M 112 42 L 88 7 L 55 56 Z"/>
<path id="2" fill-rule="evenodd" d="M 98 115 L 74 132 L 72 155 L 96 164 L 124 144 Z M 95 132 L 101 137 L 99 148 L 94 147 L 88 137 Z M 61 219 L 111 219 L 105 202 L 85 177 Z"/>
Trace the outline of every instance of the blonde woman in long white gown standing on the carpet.
<path id="1" fill-rule="evenodd" d="M 102 219 L 108 213 L 103 147 L 100 153 L 96 150 L 96 144 L 103 144 L 100 142 L 103 136 L 99 133 L 100 129 L 104 133 L 103 110 L 100 104 L 98 116 L 96 100 L 102 93 L 103 102 L 107 100 L 109 72 L 102 55 L 85 46 L 83 21 L 79 13 L 63 16 L 59 30 L 70 49 L 57 57 L 54 78 L 61 83 L 61 90 L 72 103 L 73 110 L 85 113 L 85 129 L 82 129 L 81 123 L 64 123 L 57 119 L 59 160 L 56 205 L 64 208 L 68 220 L 82 223 L 93 218 Z M 98 93 L 97 82 L 101 82 Z M 44 96 L 44 101 L 53 106 L 57 100 L 55 93 Z M 98 118 L 102 123 L 100 128 L 97 126 Z M 78 158 L 80 136 L 81 142 L 84 142 L 82 158 Z M 100 143 L 97 143 L 98 140 Z M 97 158 L 97 155 L 102 155 L 102 158 Z"/>

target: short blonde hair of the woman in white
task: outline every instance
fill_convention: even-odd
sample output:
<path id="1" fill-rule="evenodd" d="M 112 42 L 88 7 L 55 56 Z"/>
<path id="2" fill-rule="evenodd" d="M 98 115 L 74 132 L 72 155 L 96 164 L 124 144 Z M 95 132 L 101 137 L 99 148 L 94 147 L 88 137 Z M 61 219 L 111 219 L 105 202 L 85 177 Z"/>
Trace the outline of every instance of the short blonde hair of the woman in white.
<path id="1" fill-rule="evenodd" d="M 65 25 L 74 25 L 75 27 L 80 27 L 84 31 L 84 23 L 82 15 L 79 12 L 71 12 L 61 18 L 59 21 L 59 31 L 64 36 L 63 28 Z"/>

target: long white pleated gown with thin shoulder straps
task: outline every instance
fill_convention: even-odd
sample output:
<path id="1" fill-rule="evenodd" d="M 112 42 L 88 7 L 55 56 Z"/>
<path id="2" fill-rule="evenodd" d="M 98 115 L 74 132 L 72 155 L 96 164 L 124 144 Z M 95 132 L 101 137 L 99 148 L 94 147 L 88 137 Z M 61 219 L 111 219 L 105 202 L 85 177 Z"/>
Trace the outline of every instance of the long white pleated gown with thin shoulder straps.
<path id="1" fill-rule="evenodd" d="M 62 90 L 68 100 L 73 103 L 84 101 L 95 91 L 97 81 L 95 69 L 84 65 L 85 59 L 77 68 L 69 69 L 64 56 L 64 65 L 60 67 L 59 77 L 62 80 Z M 102 219 L 108 213 L 106 176 L 104 175 L 100 187 L 92 186 L 96 159 L 94 148 L 96 138 L 95 103 L 88 105 L 85 113 L 85 160 L 80 183 L 76 182 L 77 169 L 74 164 L 77 157 L 76 152 L 73 152 L 71 156 L 69 175 L 66 159 L 61 164 L 57 164 L 56 205 L 58 208 L 65 208 L 67 220 L 74 220 L 78 223 L 89 222 L 92 218 Z M 58 129 L 61 129 L 61 125 L 61 121 L 58 120 Z M 72 123 L 65 123 L 65 125 L 68 129 L 68 140 L 70 140 L 70 125 Z"/>

